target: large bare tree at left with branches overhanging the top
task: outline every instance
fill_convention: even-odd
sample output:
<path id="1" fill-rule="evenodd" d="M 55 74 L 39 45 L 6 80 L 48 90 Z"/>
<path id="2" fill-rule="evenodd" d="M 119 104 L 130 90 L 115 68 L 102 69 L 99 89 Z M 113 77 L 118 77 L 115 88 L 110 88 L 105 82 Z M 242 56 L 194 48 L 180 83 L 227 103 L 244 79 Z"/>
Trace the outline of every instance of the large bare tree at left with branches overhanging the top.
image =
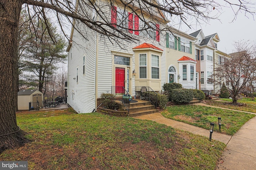
<path id="1" fill-rule="evenodd" d="M 234 8 L 234 14 L 241 10 L 246 14 L 255 15 L 255 3 L 249 0 L 227 1 L 228 6 Z M 0 152 L 4 149 L 18 147 L 26 141 L 16 122 L 15 106 L 18 89 L 18 25 L 22 5 L 29 12 L 30 25 L 33 27 L 33 20 L 42 19 L 46 23 L 46 28 L 50 39 L 55 43 L 53 32 L 48 25 L 48 18 L 55 18 L 64 36 L 65 27 L 73 25 L 76 21 L 91 30 L 105 35 L 110 41 L 136 41 L 138 37 L 132 36 L 129 30 L 122 24 L 112 22 L 108 15 L 101 9 L 103 3 L 94 3 L 93 0 L 0 0 Z M 157 28 L 152 26 L 153 20 L 167 23 L 172 20 L 171 16 L 178 16 L 181 22 L 186 23 L 188 16 L 197 20 L 210 19 L 209 12 L 212 9 L 221 10 L 222 6 L 214 0 L 109 0 L 108 6 L 111 9 L 113 4 L 120 4 L 124 8 L 130 9 L 141 21 L 144 21 L 140 30 L 159 29 L 159 33 L 170 27 Z M 105 5 L 105 4 L 104 4 Z M 238 8 L 236 8 L 238 7 Z M 237 10 L 236 10 L 237 9 Z M 92 11 L 96 12 L 99 20 L 93 20 Z M 150 18 L 147 20 L 146 18 Z M 74 20 L 73 20 L 74 19 Z M 67 25 L 67 21 L 70 23 Z M 74 22 L 73 22 L 74 21 Z M 122 22 L 121 22 L 122 23 Z M 188 26 L 190 26 L 188 24 Z M 79 27 L 74 27 L 86 39 L 86 31 Z M 124 31 L 124 30 L 128 31 Z M 139 31 L 139 30 L 136 30 Z"/>

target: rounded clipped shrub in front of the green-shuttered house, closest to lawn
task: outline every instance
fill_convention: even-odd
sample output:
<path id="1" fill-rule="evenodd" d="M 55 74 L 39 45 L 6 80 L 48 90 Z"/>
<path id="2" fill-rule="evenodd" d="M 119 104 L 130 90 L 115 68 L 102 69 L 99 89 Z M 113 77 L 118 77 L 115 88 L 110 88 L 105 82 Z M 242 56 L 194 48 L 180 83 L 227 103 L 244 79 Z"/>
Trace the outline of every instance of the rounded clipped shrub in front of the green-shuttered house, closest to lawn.
<path id="1" fill-rule="evenodd" d="M 188 103 L 194 97 L 191 89 L 173 89 L 172 100 L 176 104 Z"/>

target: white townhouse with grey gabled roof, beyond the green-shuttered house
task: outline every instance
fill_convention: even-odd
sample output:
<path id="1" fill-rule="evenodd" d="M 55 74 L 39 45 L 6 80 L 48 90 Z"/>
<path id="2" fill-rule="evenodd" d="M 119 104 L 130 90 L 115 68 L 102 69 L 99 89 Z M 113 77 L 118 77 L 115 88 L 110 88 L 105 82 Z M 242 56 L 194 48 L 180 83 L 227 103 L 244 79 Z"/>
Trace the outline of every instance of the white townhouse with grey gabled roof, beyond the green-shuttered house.
<path id="1" fill-rule="evenodd" d="M 231 56 L 218 50 L 220 39 L 217 33 L 205 37 L 202 29 L 200 29 L 190 35 L 197 38 L 195 42 L 195 59 L 197 62 L 196 72 L 199 73 L 200 90 L 218 94 L 221 86 L 214 83 L 214 77 L 212 76 L 214 68 Z"/>

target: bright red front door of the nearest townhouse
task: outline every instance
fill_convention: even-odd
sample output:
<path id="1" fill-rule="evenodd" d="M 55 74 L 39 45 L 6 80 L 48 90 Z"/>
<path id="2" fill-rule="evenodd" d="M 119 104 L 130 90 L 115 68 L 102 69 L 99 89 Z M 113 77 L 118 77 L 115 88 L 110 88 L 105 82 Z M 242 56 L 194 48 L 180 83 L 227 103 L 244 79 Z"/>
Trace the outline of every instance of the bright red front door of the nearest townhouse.
<path id="1" fill-rule="evenodd" d="M 122 93 L 124 87 L 125 68 L 116 67 L 116 93 Z"/>

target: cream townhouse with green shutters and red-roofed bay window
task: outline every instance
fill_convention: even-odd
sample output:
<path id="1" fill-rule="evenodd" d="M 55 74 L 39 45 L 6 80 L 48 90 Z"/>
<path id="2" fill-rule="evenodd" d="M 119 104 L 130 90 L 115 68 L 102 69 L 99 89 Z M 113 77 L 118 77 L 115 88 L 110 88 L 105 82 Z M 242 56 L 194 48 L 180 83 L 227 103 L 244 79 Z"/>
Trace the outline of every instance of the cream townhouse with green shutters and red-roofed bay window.
<path id="1" fill-rule="evenodd" d="M 196 37 L 171 29 L 166 33 L 166 82 L 180 83 L 182 86 L 199 88 L 196 73 Z"/>

